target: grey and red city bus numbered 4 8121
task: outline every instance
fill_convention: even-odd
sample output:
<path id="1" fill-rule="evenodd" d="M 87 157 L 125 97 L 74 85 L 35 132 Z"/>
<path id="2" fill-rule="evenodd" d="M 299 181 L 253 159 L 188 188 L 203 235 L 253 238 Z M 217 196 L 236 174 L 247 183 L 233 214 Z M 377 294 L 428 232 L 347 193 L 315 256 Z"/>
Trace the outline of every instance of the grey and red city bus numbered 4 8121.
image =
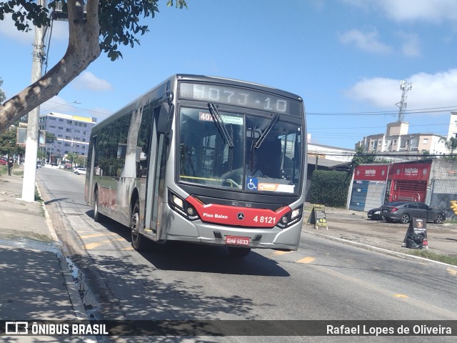
<path id="1" fill-rule="evenodd" d="M 233 257 L 298 249 L 306 191 L 300 96 L 176 74 L 91 131 L 84 197 L 94 220 L 147 239 L 214 244 Z"/>

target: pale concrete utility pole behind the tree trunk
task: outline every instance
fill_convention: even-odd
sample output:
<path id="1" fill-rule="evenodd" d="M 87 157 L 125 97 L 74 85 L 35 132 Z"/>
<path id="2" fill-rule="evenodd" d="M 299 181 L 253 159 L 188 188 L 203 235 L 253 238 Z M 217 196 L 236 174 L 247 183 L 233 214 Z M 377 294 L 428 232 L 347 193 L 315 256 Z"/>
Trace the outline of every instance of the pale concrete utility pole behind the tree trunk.
<path id="1" fill-rule="evenodd" d="M 38 0 L 39 6 L 46 6 L 46 0 Z M 46 26 L 35 26 L 34 52 L 32 53 L 31 83 L 34 84 L 42 76 L 44 59 L 44 34 Z M 22 200 L 35 201 L 36 156 L 39 144 L 39 112 L 40 106 L 29 112 L 27 121 L 26 156 L 24 161 L 24 180 L 22 182 Z"/>

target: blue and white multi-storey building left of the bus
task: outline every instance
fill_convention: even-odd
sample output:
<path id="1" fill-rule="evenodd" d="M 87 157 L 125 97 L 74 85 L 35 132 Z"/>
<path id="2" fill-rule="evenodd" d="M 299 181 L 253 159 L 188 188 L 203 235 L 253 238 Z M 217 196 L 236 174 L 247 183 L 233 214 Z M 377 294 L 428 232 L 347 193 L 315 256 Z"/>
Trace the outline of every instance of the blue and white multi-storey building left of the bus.
<path id="1" fill-rule="evenodd" d="M 56 136 L 52 144 L 46 144 L 46 154 L 50 161 L 61 161 L 66 154 L 74 153 L 87 156 L 91 129 L 96 124 L 96 118 L 71 116 L 51 112 L 39 117 L 39 129 L 46 130 Z"/>

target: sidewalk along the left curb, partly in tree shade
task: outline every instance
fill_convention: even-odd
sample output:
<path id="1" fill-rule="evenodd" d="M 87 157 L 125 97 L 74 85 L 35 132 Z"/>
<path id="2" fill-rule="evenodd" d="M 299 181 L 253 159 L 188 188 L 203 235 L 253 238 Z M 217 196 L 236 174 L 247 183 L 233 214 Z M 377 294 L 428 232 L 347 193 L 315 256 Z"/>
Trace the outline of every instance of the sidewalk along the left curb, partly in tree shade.
<path id="1" fill-rule="evenodd" d="M 86 319 L 44 205 L 21 194 L 22 177 L 0 176 L 0 319 Z"/>

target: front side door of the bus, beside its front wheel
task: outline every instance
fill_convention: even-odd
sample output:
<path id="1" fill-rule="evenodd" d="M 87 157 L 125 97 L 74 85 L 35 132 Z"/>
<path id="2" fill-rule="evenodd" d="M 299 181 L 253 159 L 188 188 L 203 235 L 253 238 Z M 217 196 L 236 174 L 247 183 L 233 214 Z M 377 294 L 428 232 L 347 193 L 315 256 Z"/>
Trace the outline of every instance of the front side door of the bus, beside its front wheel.
<path id="1" fill-rule="evenodd" d="M 165 163 L 166 163 L 166 134 L 158 129 L 159 116 L 166 115 L 164 106 L 154 108 L 154 122 L 151 135 L 151 156 L 146 184 L 145 201 L 145 234 L 151 234 L 158 239 L 162 204 L 165 199 Z"/>

